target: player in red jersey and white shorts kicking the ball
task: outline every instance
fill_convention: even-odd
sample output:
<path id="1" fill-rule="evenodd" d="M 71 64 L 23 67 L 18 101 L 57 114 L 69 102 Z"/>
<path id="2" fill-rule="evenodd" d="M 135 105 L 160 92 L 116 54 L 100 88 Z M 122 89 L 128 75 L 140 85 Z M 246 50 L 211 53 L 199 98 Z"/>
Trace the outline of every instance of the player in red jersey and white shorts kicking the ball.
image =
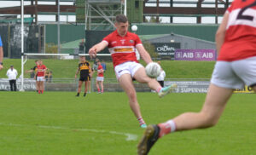
<path id="1" fill-rule="evenodd" d="M 139 83 L 148 83 L 148 87 L 158 92 L 160 97 L 171 92 L 174 87 L 162 88 L 155 79 L 148 78 L 145 68 L 137 61 L 135 51 L 137 49 L 147 64 L 152 62 L 151 57 L 144 49 L 143 43 L 137 34 L 128 32 L 128 26 L 127 17 L 123 14 L 117 15 L 115 21 L 116 31 L 104 37 L 101 43 L 94 45 L 89 50 L 89 54 L 96 57 L 98 52 L 108 47 L 113 60 L 116 77 L 121 87 L 125 90 L 126 95 L 128 95 L 131 110 L 137 117 L 141 128 L 146 128 L 147 125 L 140 112 L 132 78 L 136 79 Z"/>

